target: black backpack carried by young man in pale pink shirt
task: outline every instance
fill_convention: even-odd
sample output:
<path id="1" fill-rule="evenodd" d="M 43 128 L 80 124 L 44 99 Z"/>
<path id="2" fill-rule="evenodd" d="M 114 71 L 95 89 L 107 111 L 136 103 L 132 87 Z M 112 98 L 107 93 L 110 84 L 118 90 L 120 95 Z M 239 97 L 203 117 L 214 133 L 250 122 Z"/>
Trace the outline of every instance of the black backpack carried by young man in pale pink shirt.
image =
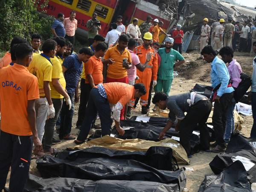
<path id="1" fill-rule="evenodd" d="M 250 76 L 248 76 L 246 73 L 241 73 L 240 79 L 242 81 L 239 83 L 238 87 L 234 91 L 234 99 L 236 100 L 237 103 L 244 96 L 244 94 L 247 92 L 247 90 L 250 88 L 252 84 Z"/>

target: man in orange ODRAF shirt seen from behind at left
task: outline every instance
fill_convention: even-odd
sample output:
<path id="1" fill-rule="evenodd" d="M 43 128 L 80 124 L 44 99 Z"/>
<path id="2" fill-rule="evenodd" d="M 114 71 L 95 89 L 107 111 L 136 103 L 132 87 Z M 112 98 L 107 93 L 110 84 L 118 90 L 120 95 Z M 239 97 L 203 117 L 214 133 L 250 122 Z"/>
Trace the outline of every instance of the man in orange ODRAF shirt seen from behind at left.
<path id="1" fill-rule="evenodd" d="M 38 80 L 26 69 L 32 54 L 29 44 L 18 44 L 15 64 L 0 70 L 0 191 L 5 187 L 11 166 L 9 190 L 23 192 L 33 143 L 34 151 L 42 149 L 35 116 L 35 100 L 39 99 Z"/>

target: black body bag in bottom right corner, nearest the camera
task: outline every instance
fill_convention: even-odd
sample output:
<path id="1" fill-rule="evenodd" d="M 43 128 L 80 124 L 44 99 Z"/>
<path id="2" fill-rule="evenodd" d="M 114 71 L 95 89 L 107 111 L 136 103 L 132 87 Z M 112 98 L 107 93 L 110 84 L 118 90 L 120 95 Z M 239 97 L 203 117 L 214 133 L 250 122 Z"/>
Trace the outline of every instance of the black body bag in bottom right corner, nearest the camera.
<path id="1" fill-rule="evenodd" d="M 251 192 L 251 189 L 243 164 L 235 161 L 219 175 L 205 175 L 198 192 Z"/>

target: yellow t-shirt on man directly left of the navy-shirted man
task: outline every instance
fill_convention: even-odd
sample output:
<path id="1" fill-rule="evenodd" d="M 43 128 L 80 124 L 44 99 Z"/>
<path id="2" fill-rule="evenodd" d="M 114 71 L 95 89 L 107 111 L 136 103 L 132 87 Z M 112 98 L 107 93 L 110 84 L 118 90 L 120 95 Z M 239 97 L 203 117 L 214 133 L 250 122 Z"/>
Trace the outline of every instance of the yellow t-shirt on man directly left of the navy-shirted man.
<path id="1" fill-rule="evenodd" d="M 62 65 L 60 61 L 63 61 L 60 57 L 57 57 L 56 55 L 54 58 L 50 58 L 52 62 L 52 79 L 59 79 L 61 86 L 63 89 L 66 88 L 66 81 L 64 78 L 64 75 L 62 73 Z M 60 93 L 58 93 L 57 90 L 52 85 L 52 82 L 50 82 L 51 87 L 51 98 L 53 99 L 62 99 L 64 96 L 62 96 Z"/>

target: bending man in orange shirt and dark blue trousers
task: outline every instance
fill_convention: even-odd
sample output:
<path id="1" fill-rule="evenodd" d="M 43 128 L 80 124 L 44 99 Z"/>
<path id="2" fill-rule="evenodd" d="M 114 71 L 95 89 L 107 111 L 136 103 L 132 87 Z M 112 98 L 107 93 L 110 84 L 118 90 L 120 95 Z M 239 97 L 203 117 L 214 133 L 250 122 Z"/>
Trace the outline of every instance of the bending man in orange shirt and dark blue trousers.
<path id="1" fill-rule="evenodd" d="M 76 144 L 84 143 L 87 138 L 93 119 L 99 113 L 101 122 L 102 136 L 110 135 L 111 133 L 111 106 L 113 108 L 113 119 L 115 120 L 116 130 L 120 135 L 125 134 L 125 131 L 120 127 L 120 112 L 123 106 L 131 99 L 140 98 L 146 94 L 146 89 L 143 84 L 129 85 L 126 83 L 113 82 L 98 84 L 90 91 L 85 118 L 81 126 L 79 136 L 74 141 Z"/>

